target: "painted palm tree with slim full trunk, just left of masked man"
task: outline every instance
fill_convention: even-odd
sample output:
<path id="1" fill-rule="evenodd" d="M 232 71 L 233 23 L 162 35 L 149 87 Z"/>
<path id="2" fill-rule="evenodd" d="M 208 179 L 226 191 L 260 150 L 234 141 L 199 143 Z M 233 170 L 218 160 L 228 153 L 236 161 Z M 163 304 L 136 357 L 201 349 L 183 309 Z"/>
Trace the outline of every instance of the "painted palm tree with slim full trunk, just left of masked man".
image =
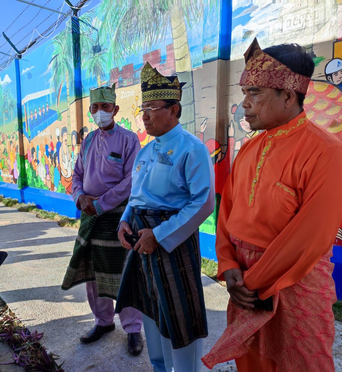
<path id="1" fill-rule="evenodd" d="M 68 28 L 55 36 L 50 45 L 53 47 L 51 60 L 48 67 L 52 67 L 51 89 L 54 89 L 57 99 L 57 111 L 59 115 L 59 100 L 65 81 L 67 89 L 67 116 L 68 116 L 68 145 L 71 145 L 71 119 L 70 119 L 70 93 L 72 93 L 74 79 L 74 68 L 71 54 L 71 33 Z M 70 143 L 69 143 L 70 142 Z"/>

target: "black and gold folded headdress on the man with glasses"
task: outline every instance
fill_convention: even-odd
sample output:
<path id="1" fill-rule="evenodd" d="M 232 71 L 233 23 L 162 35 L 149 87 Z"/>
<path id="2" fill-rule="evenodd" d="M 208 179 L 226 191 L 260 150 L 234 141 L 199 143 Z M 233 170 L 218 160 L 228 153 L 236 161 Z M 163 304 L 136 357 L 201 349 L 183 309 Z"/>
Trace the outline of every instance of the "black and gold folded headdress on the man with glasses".
<path id="1" fill-rule="evenodd" d="M 177 76 L 162 76 L 148 62 L 141 71 L 142 102 L 182 98 L 182 87 Z"/>

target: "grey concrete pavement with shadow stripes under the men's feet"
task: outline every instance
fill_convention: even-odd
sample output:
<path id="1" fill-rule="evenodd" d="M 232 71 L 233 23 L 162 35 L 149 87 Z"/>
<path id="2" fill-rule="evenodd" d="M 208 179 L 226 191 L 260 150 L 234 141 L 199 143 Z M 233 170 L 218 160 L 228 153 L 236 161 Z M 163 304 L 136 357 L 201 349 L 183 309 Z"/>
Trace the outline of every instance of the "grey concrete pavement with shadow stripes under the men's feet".
<path id="1" fill-rule="evenodd" d="M 138 357 L 129 355 L 118 315 L 115 331 L 95 343 L 80 343 L 94 324 L 85 284 L 69 291 L 60 288 L 76 235 L 75 229 L 0 203 L 0 249 L 8 253 L 0 267 L 0 296 L 30 330 L 44 332 L 42 344 L 65 360 L 65 371 L 152 372 L 146 347 Z M 222 334 L 228 294 L 207 276 L 202 281 L 209 323 L 206 353 Z M 202 371 L 209 370 L 203 366 Z M 236 369 L 234 363 L 225 363 L 213 371 Z"/>

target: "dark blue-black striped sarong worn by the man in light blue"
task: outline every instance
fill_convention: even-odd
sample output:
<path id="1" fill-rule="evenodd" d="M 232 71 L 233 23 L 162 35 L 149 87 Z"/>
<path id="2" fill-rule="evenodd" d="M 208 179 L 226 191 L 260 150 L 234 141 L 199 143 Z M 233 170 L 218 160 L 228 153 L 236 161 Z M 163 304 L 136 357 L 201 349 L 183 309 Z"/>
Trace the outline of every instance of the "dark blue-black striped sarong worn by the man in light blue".
<path id="1" fill-rule="evenodd" d="M 132 208 L 130 226 L 137 234 L 176 213 Z M 125 307 L 152 318 L 174 349 L 207 337 L 198 230 L 171 253 L 161 246 L 146 255 L 128 251 L 115 311 Z"/>

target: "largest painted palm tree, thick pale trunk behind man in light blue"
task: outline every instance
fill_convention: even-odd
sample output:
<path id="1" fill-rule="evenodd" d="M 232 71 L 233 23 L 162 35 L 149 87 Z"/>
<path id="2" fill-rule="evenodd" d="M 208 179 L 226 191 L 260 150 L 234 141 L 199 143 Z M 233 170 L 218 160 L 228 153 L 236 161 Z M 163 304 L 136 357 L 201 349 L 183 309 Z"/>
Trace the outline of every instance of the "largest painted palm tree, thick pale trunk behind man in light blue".
<path id="1" fill-rule="evenodd" d="M 207 1 L 212 3 L 212 0 Z M 195 133 L 194 86 L 186 23 L 195 25 L 203 17 L 203 2 L 177 0 L 104 0 L 93 11 L 101 43 L 109 43 L 107 69 L 121 67 L 124 54 L 151 50 L 171 25 L 178 79 L 186 81 L 182 97 L 182 120 Z M 185 23 L 186 22 L 186 23 Z"/>

